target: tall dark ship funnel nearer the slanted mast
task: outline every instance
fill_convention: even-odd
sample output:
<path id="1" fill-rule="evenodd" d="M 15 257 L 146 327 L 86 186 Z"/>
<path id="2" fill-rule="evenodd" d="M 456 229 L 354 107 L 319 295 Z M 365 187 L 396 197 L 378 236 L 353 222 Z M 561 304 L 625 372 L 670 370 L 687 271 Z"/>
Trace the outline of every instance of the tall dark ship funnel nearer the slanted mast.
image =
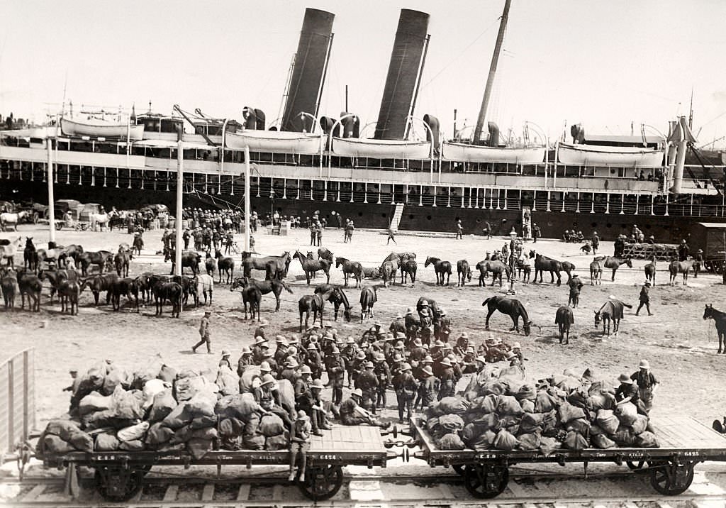
<path id="1" fill-rule="evenodd" d="M 401 9 L 375 126 L 376 140 L 402 140 L 406 137 L 408 117 L 413 114 L 423 72 L 428 17 L 425 12 Z"/>

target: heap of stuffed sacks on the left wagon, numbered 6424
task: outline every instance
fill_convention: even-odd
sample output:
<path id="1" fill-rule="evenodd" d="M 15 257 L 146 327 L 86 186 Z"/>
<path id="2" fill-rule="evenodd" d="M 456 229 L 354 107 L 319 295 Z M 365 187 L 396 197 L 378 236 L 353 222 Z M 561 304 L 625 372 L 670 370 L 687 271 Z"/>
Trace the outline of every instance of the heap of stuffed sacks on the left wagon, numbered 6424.
<path id="1" fill-rule="evenodd" d="M 245 373 L 246 374 L 246 373 Z M 213 380 L 214 381 L 213 381 Z M 287 448 L 280 416 L 263 415 L 248 384 L 227 367 L 219 373 L 177 372 L 154 360 L 128 374 L 113 364 L 91 368 L 71 398 L 71 419 L 49 422 L 38 456 L 70 451 L 186 450 L 200 459 L 215 447 L 229 450 Z M 246 392 L 240 393 L 240 384 Z M 280 398 L 294 411 L 292 384 L 279 382 Z M 292 400 L 290 406 L 290 400 Z"/>

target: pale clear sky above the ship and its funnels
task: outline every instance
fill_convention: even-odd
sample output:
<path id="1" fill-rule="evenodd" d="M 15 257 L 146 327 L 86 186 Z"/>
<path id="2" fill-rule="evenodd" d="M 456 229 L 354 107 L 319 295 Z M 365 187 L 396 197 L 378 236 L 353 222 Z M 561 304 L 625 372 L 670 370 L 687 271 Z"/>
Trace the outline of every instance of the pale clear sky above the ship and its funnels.
<path id="1" fill-rule="evenodd" d="M 0 114 L 42 121 L 73 101 L 218 118 L 279 116 L 306 7 L 335 14 L 321 114 L 378 118 L 401 8 L 431 15 L 415 116 L 446 137 L 476 123 L 504 0 L 0 0 Z M 687 115 L 699 145 L 726 147 L 726 1 L 513 0 L 487 121 L 547 137 L 640 134 Z M 533 126 L 533 129 L 537 129 Z M 649 134 L 656 133 L 650 127 Z M 373 129 L 366 131 L 372 136 Z M 724 140 L 719 140 L 725 137 Z M 717 140 L 715 145 L 712 143 Z"/>

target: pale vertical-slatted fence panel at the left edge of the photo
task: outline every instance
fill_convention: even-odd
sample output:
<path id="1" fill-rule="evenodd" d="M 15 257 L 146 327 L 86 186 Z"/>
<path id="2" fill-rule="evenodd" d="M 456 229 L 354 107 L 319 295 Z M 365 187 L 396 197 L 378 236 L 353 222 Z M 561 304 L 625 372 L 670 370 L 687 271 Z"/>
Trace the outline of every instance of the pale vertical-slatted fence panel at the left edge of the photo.
<path id="1" fill-rule="evenodd" d="M 0 363 L 0 463 L 36 427 L 35 350 Z"/>

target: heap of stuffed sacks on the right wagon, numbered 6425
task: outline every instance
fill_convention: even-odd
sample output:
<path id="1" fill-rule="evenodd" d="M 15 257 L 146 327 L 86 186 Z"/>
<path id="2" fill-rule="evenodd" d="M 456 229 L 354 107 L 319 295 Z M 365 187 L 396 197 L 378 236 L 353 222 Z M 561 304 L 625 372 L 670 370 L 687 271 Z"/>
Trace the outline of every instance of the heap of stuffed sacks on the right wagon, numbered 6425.
<path id="1" fill-rule="evenodd" d="M 586 371 L 587 372 L 587 371 Z M 648 416 L 630 402 L 616 404 L 605 382 L 570 372 L 516 386 L 507 379 L 477 384 L 428 407 L 426 428 L 441 450 L 658 448 Z"/>

